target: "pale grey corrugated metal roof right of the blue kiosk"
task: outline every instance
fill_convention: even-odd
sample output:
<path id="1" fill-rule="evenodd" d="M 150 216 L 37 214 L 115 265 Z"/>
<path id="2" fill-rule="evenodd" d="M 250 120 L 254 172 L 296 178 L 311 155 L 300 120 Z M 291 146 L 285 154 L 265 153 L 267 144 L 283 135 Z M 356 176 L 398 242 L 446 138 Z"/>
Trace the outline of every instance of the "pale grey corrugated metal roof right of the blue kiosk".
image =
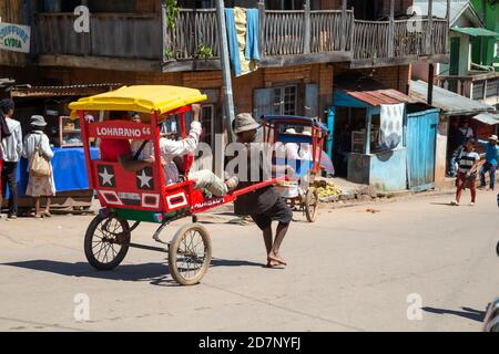
<path id="1" fill-rule="evenodd" d="M 428 84 L 424 81 L 411 81 L 409 95 L 426 101 Z M 432 106 L 440 108 L 447 116 L 473 115 L 483 112 L 495 112 L 496 110 L 493 106 L 460 96 L 438 86 L 434 86 Z"/>

